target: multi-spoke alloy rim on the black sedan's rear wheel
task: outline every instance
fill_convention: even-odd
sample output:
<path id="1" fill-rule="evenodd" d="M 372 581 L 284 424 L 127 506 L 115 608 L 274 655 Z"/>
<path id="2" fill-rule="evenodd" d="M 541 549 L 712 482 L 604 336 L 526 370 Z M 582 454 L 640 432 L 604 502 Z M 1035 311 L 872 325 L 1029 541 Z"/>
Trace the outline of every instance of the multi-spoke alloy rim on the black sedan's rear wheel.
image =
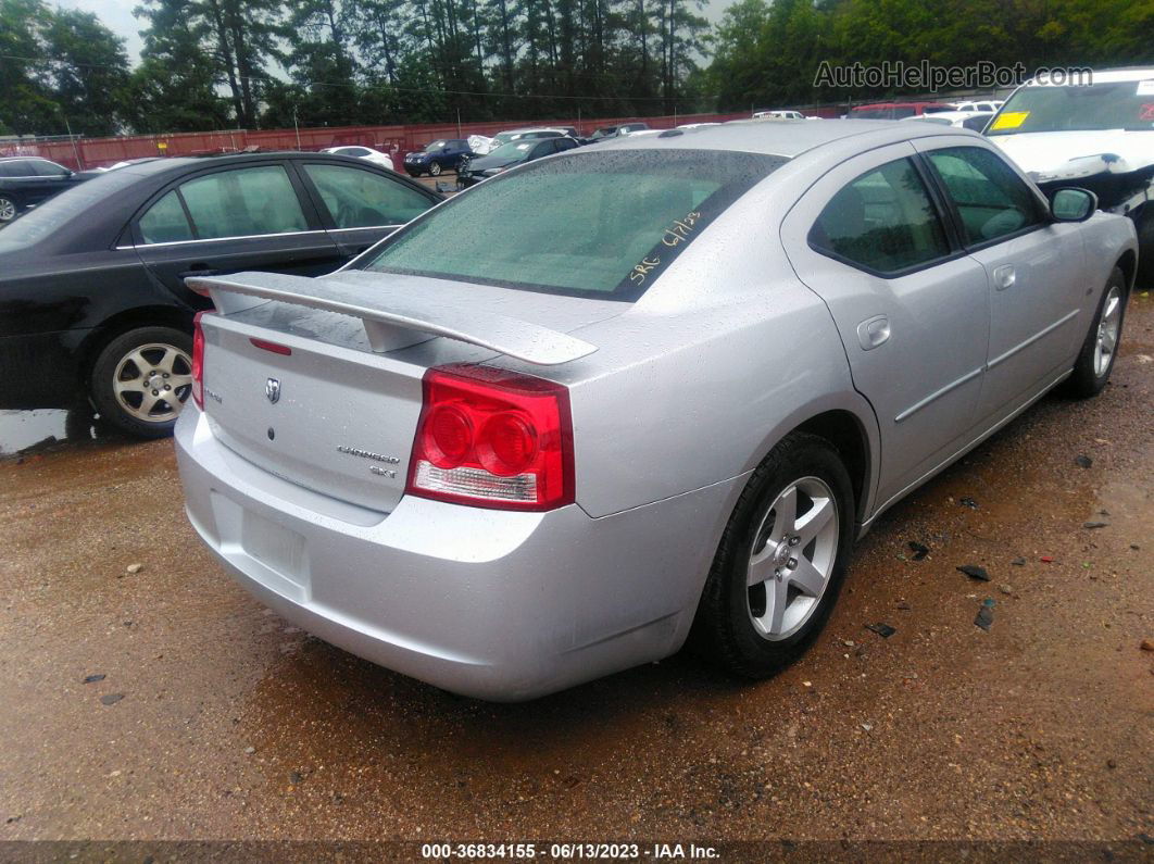
<path id="1" fill-rule="evenodd" d="M 192 392 L 193 361 L 173 345 L 141 345 L 117 363 L 112 389 L 117 404 L 137 420 L 168 422 Z"/>

